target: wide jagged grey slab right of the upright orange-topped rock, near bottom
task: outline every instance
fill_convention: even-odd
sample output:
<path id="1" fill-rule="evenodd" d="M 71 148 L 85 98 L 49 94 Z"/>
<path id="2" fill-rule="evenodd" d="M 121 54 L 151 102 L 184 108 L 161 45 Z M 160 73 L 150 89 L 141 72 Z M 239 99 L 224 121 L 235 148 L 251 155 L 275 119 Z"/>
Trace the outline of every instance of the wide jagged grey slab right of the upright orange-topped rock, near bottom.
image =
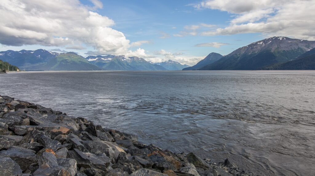
<path id="1" fill-rule="evenodd" d="M 105 154 L 95 155 L 89 152 L 82 152 L 78 149 L 69 150 L 68 158 L 75 159 L 77 161 L 78 167 L 94 167 L 107 172 L 107 167 L 110 165 L 110 158 L 105 156 Z"/>

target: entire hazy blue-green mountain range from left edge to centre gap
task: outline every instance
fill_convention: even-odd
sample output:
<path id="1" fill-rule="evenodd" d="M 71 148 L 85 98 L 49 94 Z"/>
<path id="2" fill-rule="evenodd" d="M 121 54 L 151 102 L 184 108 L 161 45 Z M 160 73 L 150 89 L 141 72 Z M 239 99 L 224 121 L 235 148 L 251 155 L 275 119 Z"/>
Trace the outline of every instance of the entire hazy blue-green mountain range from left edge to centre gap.
<path id="1" fill-rule="evenodd" d="M 155 64 L 147 62 L 140 57 L 124 56 L 83 56 L 73 52 L 56 53 L 47 50 L 20 50 L 20 51 L 1 51 L 0 59 L 18 66 L 21 69 L 30 70 L 169 70 L 163 67 L 162 63 Z M 187 65 L 178 62 L 167 61 L 166 65 L 171 70 L 181 70 Z"/>

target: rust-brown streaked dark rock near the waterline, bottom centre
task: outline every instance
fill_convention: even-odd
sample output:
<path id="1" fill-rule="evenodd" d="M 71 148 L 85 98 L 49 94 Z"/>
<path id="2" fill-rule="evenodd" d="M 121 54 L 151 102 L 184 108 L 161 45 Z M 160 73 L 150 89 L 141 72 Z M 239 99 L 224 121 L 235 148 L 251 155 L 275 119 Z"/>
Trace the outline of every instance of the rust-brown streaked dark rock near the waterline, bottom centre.
<path id="1" fill-rule="evenodd" d="M 181 167 L 180 161 L 177 161 L 172 156 L 168 156 L 161 151 L 154 151 L 148 154 L 150 160 L 154 162 L 152 168 L 156 168 L 161 171 L 166 170 L 178 170 Z"/>

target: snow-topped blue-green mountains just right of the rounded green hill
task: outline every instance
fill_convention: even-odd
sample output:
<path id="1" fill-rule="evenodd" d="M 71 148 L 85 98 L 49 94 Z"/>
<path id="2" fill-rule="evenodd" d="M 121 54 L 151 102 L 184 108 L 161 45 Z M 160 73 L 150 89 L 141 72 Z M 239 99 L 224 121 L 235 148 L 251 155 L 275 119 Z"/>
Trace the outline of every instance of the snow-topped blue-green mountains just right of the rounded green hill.
<path id="1" fill-rule="evenodd" d="M 147 62 L 140 57 L 124 57 L 124 56 L 88 56 L 86 59 L 102 68 L 103 70 L 141 70 L 154 71 L 166 70 L 164 67 Z"/>

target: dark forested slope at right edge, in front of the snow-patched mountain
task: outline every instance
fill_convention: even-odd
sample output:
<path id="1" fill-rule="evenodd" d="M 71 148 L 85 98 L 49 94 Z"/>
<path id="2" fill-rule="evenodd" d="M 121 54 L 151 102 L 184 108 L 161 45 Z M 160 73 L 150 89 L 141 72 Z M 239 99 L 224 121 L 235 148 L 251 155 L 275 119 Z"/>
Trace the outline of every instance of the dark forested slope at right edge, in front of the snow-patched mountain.
<path id="1" fill-rule="evenodd" d="M 262 70 L 315 70 L 315 48 L 309 50 L 298 59 L 276 63 L 261 68 Z"/>

